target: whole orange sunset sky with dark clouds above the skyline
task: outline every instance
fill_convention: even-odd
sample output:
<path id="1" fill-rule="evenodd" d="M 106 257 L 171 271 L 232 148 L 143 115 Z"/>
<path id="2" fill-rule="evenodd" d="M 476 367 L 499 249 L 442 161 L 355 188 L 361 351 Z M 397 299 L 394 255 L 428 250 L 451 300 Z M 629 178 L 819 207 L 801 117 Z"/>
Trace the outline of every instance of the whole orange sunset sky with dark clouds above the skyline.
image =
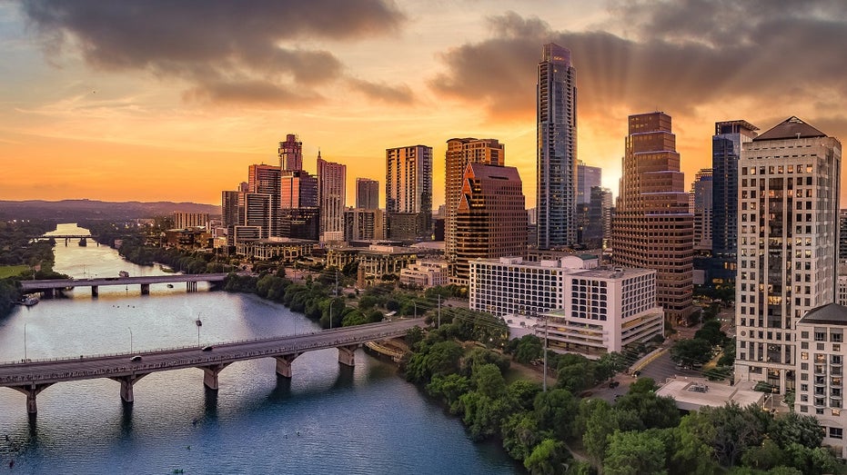
<path id="1" fill-rule="evenodd" d="M 847 137 L 841 0 L 13 0 L 0 200 L 220 204 L 293 133 L 309 172 L 318 148 L 347 163 L 348 203 L 356 177 L 384 184 L 386 148 L 418 143 L 443 203 L 446 141 L 497 138 L 534 206 L 550 42 L 577 70 L 578 156 L 616 195 L 629 114 L 671 114 L 689 183 L 716 121 Z"/>

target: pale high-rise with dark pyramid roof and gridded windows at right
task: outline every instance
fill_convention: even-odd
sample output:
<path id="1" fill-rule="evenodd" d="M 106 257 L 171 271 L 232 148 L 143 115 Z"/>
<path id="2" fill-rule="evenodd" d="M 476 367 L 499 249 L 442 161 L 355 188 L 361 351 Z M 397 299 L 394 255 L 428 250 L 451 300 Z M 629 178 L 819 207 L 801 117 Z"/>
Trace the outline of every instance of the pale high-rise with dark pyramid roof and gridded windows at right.
<path id="1" fill-rule="evenodd" d="M 795 347 L 796 323 L 836 297 L 841 154 L 797 117 L 741 145 L 735 381 L 797 389 L 797 401 L 814 381 L 797 387 L 795 374 L 817 361 Z"/>

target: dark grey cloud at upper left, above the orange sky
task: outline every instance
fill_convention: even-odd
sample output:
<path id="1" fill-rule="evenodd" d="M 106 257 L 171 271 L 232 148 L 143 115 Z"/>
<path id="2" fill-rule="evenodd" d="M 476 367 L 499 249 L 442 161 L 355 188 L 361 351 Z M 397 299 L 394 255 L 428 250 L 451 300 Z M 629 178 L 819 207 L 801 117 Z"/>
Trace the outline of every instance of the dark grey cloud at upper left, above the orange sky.
<path id="1" fill-rule="evenodd" d="M 193 84 L 188 97 L 260 103 L 267 94 L 269 104 L 344 74 L 328 51 L 293 45 L 387 35 L 405 21 L 389 0 L 22 0 L 21 5 L 48 54 L 78 48 L 86 63 L 103 70 L 187 79 Z M 237 93 L 240 86 L 251 89 Z"/>

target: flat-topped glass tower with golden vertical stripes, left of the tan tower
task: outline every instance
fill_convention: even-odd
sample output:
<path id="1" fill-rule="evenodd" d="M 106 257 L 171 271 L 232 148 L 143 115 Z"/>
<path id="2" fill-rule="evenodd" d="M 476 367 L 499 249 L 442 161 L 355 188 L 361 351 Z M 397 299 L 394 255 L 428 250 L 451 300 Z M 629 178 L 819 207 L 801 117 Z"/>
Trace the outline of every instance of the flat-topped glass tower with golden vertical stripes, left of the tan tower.
<path id="1" fill-rule="evenodd" d="M 418 214 L 418 236 L 430 239 L 432 229 L 432 147 L 388 148 L 385 196 L 387 213 Z"/>

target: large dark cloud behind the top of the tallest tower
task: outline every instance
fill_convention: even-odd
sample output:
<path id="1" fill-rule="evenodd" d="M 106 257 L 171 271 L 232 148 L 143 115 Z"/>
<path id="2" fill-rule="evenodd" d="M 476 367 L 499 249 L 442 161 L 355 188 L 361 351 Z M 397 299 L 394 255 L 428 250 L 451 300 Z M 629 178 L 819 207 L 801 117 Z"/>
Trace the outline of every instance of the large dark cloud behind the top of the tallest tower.
<path id="1" fill-rule="evenodd" d="M 789 7 L 790 5 L 793 5 Z M 847 96 L 847 3 L 642 1 L 611 4 L 623 35 L 561 32 L 514 13 L 489 18 L 488 39 L 441 54 L 438 94 L 484 104 L 491 120 L 534 117 L 541 45 L 570 48 L 580 114 L 625 105 L 690 114 L 702 104 L 741 99 L 794 104 L 831 91 Z M 802 11 L 800 11 L 802 10 Z M 611 28 L 610 28 L 611 29 Z M 716 120 L 721 120 L 716 117 Z M 811 119 L 811 118 L 810 118 Z"/>

